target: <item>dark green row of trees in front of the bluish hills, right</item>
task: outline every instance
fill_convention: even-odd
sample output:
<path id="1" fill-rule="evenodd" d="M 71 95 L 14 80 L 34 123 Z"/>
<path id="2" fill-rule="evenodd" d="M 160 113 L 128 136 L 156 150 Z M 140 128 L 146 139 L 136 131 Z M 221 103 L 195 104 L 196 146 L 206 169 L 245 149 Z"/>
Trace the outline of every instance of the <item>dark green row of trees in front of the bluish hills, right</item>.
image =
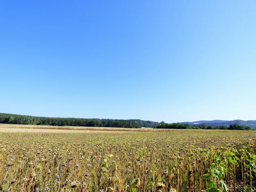
<path id="1" fill-rule="evenodd" d="M 206 126 L 205 124 L 202 125 L 189 125 L 189 124 L 179 124 L 179 123 L 172 123 L 167 124 L 162 121 L 161 124 L 156 126 L 156 129 L 220 129 L 220 130 L 254 130 L 251 129 L 249 126 L 243 126 L 239 124 L 231 124 L 229 126 Z"/>

